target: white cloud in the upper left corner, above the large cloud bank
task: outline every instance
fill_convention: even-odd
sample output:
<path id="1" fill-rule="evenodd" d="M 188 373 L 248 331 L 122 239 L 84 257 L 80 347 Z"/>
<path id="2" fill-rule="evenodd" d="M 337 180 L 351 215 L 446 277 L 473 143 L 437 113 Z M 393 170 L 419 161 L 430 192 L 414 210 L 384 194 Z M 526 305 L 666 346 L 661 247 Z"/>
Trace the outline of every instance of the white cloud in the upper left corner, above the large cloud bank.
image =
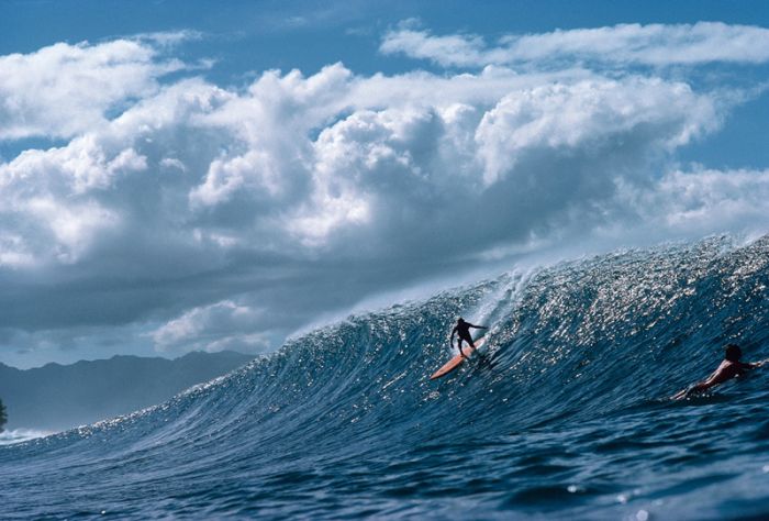
<path id="1" fill-rule="evenodd" d="M 71 137 L 103 124 L 108 111 L 152 95 L 159 76 L 182 68 L 158 58 L 156 47 L 132 40 L 0 56 L 0 140 Z"/>

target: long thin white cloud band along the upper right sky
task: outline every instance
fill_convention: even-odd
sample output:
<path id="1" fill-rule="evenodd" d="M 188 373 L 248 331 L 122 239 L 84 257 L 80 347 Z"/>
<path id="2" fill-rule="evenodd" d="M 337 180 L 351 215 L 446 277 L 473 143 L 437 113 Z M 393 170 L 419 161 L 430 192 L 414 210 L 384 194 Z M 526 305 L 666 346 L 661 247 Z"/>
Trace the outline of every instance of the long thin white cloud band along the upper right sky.
<path id="1" fill-rule="evenodd" d="M 559 59 L 651 66 L 714 62 L 759 64 L 769 60 L 769 30 L 721 22 L 634 23 L 505 35 L 497 45 L 489 46 L 477 35 L 435 36 L 406 22 L 384 36 L 380 51 L 430 59 L 443 66 L 470 68 L 537 62 L 543 65 Z"/>

